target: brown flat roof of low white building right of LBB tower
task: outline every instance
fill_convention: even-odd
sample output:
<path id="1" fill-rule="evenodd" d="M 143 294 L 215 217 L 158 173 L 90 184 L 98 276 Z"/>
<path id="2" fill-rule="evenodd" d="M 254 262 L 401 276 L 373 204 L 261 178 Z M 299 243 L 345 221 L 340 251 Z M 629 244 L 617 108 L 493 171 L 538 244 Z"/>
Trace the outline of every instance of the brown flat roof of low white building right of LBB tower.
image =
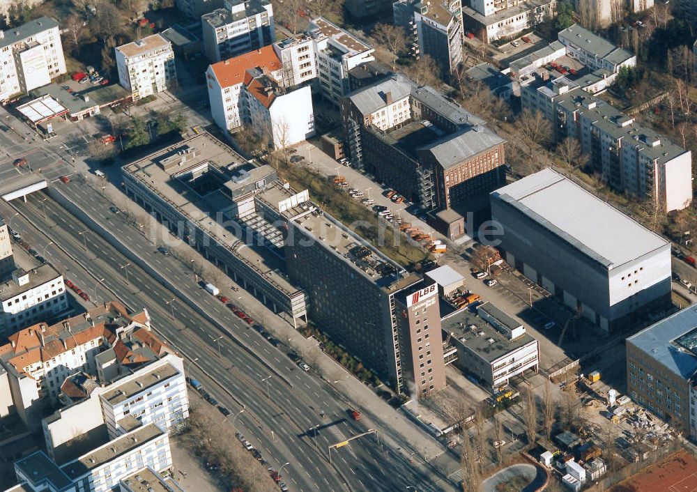
<path id="1" fill-rule="evenodd" d="M 441 319 L 441 328 L 446 334 L 453 333 L 453 336 L 461 344 L 480 355 L 487 362 L 494 362 L 512 351 L 535 342 L 535 339 L 528 333 L 509 340 L 496 328 L 489 325 L 484 318 L 480 318 L 469 309 L 460 309 L 445 316 Z M 489 340 L 493 340 L 493 342 Z"/>

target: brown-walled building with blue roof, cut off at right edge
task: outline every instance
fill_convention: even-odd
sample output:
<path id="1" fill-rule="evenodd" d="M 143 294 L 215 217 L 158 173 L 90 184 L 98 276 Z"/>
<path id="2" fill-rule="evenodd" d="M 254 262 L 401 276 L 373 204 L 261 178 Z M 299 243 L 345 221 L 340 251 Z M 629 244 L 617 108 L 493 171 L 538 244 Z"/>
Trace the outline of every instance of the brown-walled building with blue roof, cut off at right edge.
<path id="1" fill-rule="evenodd" d="M 697 438 L 697 306 L 627 339 L 627 393 L 666 422 Z"/>

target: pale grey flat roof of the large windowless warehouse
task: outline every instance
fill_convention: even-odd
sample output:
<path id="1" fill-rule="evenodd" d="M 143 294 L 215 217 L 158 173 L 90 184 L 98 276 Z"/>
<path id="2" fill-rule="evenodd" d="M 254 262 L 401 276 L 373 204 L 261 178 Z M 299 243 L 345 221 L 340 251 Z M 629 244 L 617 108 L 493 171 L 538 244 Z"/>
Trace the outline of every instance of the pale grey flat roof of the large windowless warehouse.
<path id="1" fill-rule="evenodd" d="M 638 259 L 668 241 L 584 190 L 544 169 L 491 192 L 608 270 Z"/>

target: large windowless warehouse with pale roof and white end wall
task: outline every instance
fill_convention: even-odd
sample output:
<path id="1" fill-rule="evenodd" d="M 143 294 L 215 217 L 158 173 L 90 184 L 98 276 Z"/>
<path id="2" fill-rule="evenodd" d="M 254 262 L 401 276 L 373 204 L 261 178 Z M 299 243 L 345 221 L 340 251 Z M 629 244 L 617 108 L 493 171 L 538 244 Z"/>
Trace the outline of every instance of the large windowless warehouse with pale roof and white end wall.
<path id="1" fill-rule="evenodd" d="M 609 331 L 671 305 L 671 244 L 552 169 L 492 192 L 511 266 Z"/>

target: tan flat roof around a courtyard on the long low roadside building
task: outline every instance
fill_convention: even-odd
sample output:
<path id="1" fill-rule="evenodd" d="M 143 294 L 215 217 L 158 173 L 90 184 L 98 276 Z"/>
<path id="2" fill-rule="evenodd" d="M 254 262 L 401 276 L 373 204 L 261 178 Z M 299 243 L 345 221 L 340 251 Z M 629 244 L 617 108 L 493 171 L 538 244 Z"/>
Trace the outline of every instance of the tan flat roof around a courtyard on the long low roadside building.
<path id="1" fill-rule="evenodd" d="M 179 153 L 185 151 L 190 151 L 185 162 L 177 164 L 181 160 Z M 245 261 L 249 268 L 266 277 L 267 282 L 271 282 L 288 295 L 293 295 L 300 292 L 300 289 L 291 284 L 282 273 L 283 261 L 268 248 L 247 240 L 249 238 L 236 217 L 236 206 L 231 199 L 231 194 L 240 182 L 240 175 L 246 173 L 245 176 L 250 175 L 253 178 L 255 173 L 261 172 L 258 171 L 261 168 L 247 162 L 208 132 L 201 132 L 141 160 L 126 164 L 122 170 L 198 224 L 208 236 Z M 227 184 L 202 183 L 195 185 L 197 188 L 194 189 L 192 184 L 181 179 L 184 174 L 194 169 L 197 172 L 208 171 L 220 180 L 227 179 Z M 247 180 L 247 184 L 249 183 L 253 181 Z M 219 220 L 240 226 L 222 226 Z"/>

